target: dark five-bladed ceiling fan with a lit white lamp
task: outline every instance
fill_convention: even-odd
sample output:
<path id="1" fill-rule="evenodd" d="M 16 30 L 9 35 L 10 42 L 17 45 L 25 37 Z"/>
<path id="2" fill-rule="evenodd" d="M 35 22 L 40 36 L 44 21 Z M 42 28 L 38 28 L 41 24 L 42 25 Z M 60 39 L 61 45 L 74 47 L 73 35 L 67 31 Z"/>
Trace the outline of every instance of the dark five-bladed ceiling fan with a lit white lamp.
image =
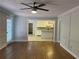
<path id="1" fill-rule="evenodd" d="M 47 9 L 40 8 L 40 7 L 43 7 L 43 6 L 46 5 L 46 4 L 43 4 L 43 3 L 37 5 L 38 2 L 34 2 L 32 6 L 29 5 L 29 4 L 26 4 L 26 3 L 21 3 L 21 4 L 29 7 L 29 8 L 21 8 L 21 10 L 32 9 L 32 13 L 37 13 L 37 10 L 49 11 Z"/>

